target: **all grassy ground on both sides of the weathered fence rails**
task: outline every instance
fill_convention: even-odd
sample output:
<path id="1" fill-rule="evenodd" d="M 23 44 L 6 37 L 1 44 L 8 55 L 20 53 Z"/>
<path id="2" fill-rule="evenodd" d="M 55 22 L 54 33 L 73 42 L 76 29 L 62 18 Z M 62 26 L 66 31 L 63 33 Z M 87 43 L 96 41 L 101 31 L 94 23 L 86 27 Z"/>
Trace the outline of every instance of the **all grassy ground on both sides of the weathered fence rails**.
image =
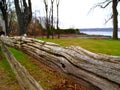
<path id="1" fill-rule="evenodd" d="M 109 55 L 120 56 L 120 40 L 100 40 L 100 39 L 80 39 L 80 38 L 62 38 L 62 39 L 41 39 L 44 41 L 54 42 L 63 47 L 81 46 L 95 53 L 104 53 Z M 77 88 L 86 90 L 78 84 L 66 79 L 60 73 L 43 65 L 36 59 L 13 48 L 9 48 L 16 59 L 27 68 L 30 74 L 44 87 L 44 90 L 67 90 L 69 86 L 77 85 Z M 66 84 L 67 83 L 67 84 Z M 74 89 L 71 90 L 74 90 Z M 0 90 L 20 90 L 14 73 L 12 72 L 5 56 L 0 49 Z"/>

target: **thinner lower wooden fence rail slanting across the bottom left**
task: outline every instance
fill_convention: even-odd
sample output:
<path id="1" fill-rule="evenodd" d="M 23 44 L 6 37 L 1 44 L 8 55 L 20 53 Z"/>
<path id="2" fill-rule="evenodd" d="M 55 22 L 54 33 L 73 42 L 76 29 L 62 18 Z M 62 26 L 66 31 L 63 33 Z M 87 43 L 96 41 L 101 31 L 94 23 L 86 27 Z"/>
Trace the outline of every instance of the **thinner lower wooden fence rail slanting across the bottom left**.
<path id="1" fill-rule="evenodd" d="M 37 81 L 29 74 L 29 72 L 22 66 L 13 56 L 13 54 L 2 44 L 2 51 L 5 54 L 13 72 L 16 75 L 19 85 L 22 90 L 43 90 Z"/>

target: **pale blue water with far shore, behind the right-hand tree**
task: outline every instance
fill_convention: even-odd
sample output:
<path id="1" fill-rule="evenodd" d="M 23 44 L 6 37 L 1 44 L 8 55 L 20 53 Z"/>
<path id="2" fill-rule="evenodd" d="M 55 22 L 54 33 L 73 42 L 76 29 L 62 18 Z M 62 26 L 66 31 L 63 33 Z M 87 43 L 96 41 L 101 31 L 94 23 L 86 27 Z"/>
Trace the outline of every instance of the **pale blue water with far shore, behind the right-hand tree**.
<path id="1" fill-rule="evenodd" d="M 80 29 L 80 32 L 86 33 L 89 35 L 112 36 L 112 28 L 88 28 L 88 29 Z M 118 37 L 120 38 L 120 28 L 118 30 Z"/>

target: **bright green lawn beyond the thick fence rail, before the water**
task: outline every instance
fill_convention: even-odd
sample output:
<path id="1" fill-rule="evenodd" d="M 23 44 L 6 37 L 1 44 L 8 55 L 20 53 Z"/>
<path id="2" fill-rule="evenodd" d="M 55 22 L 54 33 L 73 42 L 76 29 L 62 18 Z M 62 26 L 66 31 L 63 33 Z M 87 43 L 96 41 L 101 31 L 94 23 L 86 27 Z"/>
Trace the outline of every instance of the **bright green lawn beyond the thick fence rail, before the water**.
<path id="1" fill-rule="evenodd" d="M 105 39 L 81 39 L 81 38 L 62 38 L 62 39 L 42 39 L 43 41 L 54 42 L 61 46 L 81 46 L 95 53 L 120 56 L 120 40 Z"/>

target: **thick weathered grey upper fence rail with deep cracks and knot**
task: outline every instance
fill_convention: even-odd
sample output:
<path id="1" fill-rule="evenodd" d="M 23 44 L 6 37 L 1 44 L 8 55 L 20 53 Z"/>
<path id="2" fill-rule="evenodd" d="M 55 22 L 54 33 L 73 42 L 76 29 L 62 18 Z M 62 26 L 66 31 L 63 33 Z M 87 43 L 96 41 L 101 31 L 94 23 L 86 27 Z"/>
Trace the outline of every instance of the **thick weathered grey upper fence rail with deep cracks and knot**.
<path id="1" fill-rule="evenodd" d="M 1 37 L 6 45 L 37 58 L 44 64 L 83 83 L 90 90 L 120 90 L 120 57 L 95 54 L 78 46 L 63 48 L 58 44 L 33 38 Z"/>

